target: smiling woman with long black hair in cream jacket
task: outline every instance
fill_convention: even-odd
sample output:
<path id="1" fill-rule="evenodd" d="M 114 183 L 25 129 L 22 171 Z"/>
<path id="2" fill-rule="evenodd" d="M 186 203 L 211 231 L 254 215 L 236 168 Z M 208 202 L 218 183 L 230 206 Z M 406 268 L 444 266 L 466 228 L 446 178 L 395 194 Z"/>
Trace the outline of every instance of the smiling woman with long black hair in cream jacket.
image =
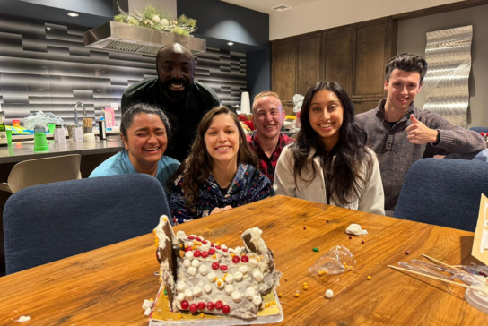
<path id="1" fill-rule="evenodd" d="M 384 214 L 376 155 L 354 123 L 353 102 L 336 82 L 317 82 L 305 95 L 301 129 L 276 165 L 274 192 L 352 210 Z"/>

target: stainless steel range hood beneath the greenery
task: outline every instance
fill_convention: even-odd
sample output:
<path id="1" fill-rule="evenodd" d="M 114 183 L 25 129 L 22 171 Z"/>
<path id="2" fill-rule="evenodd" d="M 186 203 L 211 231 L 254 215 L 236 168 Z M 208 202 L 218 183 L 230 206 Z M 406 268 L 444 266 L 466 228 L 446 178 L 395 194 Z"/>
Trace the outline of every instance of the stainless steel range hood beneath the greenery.
<path id="1" fill-rule="evenodd" d="M 156 56 L 161 47 L 170 43 L 179 43 L 194 55 L 206 51 L 205 39 L 161 33 L 117 21 L 110 21 L 83 33 L 83 41 L 85 47 L 146 56 Z"/>

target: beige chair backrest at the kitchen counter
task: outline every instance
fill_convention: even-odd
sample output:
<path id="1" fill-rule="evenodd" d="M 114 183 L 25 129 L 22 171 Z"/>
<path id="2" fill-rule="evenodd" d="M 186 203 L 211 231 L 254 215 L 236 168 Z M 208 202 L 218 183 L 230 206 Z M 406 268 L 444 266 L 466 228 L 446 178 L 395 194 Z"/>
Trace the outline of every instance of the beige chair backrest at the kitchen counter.
<path id="1" fill-rule="evenodd" d="M 80 154 L 24 160 L 13 166 L 8 185 L 16 193 L 31 185 L 81 179 L 81 162 Z"/>

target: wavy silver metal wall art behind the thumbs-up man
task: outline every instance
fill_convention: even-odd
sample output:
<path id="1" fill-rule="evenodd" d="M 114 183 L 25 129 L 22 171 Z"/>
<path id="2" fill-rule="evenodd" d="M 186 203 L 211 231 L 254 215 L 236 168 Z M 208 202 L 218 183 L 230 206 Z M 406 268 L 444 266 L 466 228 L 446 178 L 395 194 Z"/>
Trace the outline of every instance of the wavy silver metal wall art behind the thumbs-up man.
<path id="1" fill-rule="evenodd" d="M 472 39 L 473 26 L 432 31 L 427 33 L 425 47 L 429 68 L 423 80 L 423 109 L 465 128 Z"/>

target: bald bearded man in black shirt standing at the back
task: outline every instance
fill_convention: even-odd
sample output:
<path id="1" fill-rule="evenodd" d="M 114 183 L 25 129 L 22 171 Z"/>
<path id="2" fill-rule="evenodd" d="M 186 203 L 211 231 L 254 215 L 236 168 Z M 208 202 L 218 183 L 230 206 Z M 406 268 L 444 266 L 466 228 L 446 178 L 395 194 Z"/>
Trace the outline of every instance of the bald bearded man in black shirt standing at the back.
<path id="1" fill-rule="evenodd" d="M 156 56 L 156 69 L 157 78 L 135 82 L 124 91 L 122 114 L 133 102 L 161 107 L 173 131 L 164 155 L 182 162 L 187 158 L 202 117 L 220 105 L 219 98 L 208 86 L 194 82 L 195 60 L 178 43 L 161 48 Z"/>

